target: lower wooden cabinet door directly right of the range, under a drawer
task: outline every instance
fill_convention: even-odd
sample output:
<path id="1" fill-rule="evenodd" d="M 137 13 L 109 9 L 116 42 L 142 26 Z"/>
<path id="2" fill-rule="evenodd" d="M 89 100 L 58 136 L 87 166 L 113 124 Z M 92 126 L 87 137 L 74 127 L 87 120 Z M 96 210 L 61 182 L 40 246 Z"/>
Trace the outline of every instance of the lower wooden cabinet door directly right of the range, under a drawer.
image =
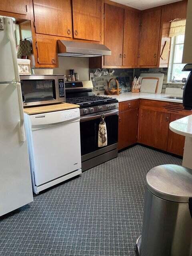
<path id="1" fill-rule="evenodd" d="M 126 148 L 137 142 L 138 109 L 119 113 L 118 149 Z"/>

